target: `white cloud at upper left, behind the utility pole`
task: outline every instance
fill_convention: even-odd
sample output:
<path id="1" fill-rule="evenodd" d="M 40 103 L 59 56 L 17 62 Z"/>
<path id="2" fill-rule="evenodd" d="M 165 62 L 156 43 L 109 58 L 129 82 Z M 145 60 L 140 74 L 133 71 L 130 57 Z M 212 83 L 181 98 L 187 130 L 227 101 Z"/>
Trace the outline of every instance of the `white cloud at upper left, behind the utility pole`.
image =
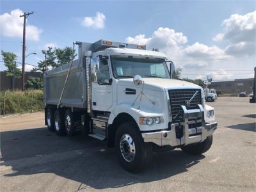
<path id="1" fill-rule="evenodd" d="M 11 13 L 3 13 L 3 15 L 0 15 L 1 35 L 21 38 L 23 35 L 24 17 L 20 17 L 20 15 L 23 14 L 24 12 L 16 9 Z M 42 29 L 36 26 L 26 25 L 26 38 L 28 40 L 39 40 L 40 33 L 42 33 Z"/>

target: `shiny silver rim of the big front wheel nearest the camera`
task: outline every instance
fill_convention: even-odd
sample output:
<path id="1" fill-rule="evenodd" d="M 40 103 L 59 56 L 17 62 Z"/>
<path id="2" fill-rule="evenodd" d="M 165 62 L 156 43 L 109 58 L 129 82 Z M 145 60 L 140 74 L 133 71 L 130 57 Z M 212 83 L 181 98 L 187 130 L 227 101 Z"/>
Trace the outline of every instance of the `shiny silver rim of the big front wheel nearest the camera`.
<path id="1" fill-rule="evenodd" d="M 125 161 L 131 162 L 136 155 L 135 143 L 129 134 L 124 134 L 120 139 L 120 150 Z"/>

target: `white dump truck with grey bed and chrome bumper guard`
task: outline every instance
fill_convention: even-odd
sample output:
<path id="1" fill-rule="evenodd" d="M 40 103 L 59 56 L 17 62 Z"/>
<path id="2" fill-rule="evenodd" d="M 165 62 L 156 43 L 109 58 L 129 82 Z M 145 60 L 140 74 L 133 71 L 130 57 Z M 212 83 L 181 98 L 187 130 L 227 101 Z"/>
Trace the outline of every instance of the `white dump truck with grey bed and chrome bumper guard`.
<path id="1" fill-rule="evenodd" d="M 154 151 L 209 150 L 214 109 L 200 86 L 171 79 L 165 54 L 106 40 L 75 44 L 77 60 L 45 72 L 49 131 L 106 140 L 129 172 L 147 168 Z"/>

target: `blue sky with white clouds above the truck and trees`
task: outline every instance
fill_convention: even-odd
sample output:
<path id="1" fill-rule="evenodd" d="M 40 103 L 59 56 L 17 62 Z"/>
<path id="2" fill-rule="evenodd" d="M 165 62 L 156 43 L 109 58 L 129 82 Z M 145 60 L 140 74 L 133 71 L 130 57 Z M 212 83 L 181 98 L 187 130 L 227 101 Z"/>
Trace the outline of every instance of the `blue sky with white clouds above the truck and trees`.
<path id="1" fill-rule="evenodd" d="M 44 60 L 47 47 L 112 40 L 158 48 L 190 79 L 253 77 L 256 1 L 0 1 L 0 49 L 26 63 Z M 3 61 L 2 58 L 0 58 Z M 20 66 L 20 64 L 19 64 Z M 33 68 L 26 65 L 26 70 Z M 5 70 L 0 62 L 0 70 Z"/>

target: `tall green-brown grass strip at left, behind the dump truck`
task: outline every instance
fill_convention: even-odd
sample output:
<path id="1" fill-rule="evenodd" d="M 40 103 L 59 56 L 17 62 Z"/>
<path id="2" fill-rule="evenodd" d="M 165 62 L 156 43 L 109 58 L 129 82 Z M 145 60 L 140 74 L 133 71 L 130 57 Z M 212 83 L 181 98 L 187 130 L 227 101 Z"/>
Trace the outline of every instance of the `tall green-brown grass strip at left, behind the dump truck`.
<path id="1" fill-rule="evenodd" d="M 1 115 L 12 113 L 26 113 L 44 109 L 44 92 L 42 90 L 6 91 L 4 106 L 4 92 L 0 93 Z M 4 107 L 4 111 L 3 111 Z"/>

